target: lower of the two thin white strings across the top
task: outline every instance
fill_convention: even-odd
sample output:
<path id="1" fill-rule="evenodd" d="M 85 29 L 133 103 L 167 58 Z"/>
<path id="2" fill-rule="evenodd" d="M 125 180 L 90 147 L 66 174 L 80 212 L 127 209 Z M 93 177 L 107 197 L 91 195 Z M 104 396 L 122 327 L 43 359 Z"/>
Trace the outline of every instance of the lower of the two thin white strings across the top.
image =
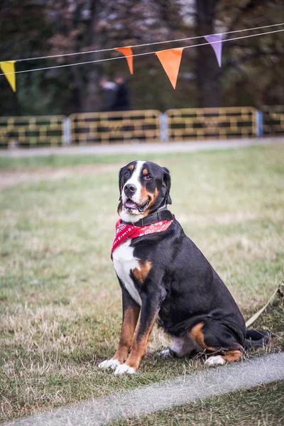
<path id="1" fill-rule="evenodd" d="M 283 24 L 278 24 L 278 25 L 284 25 L 284 23 Z M 284 29 L 282 29 L 282 30 L 275 30 L 275 31 L 268 31 L 266 33 L 243 35 L 241 37 L 226 38 L 225 40 L 216 40 L 216 41 L 210 42 L 210 44 L 212 45 L 212 44 L 215 44 L 215 43 L 226 43 L 228 41 L 233 41 L 233 40 L 241 40 L 241 39 L 244 39 L 244 38 L 258 37 L 260 35 L 280 33 L 281 31 L 284 31 Z M 199 43 L 197 45 L 184 46 L 182 49 L 197 48 L 197 47 L 204 46 L 204 45 L 208 45 L 208 43 Z M 114 49 L 111 49 L 111 50 L 114 50 Z M 98 62 L 107 62 L 109 60 L 117 60 L 117 59 L 121 59 L 121 58 L 134 58 L 136 56 L 153 55 L 155 53 L 157 53 L 157 52 L 135 53 L 133 55 L 124 55 L 124 57 L 120 57 L 119 56 L 119 57 L 116 57 L 116 58 L 89 60 L 87 62 L 76 62 L 76 63 L 72 63 L 72 64 L 53 65 L 53 67 L 42 67 L 42 68 L 34 68 L 33 70 L 22 70 L 22 71 L 15 71 L 15 72 L 6 72 L 6 73 L 2 73 L 2 74 L 0 73 L 0 75 L 22 74 L 23 72 L 34 72 L 34 71 L 43 71 L 43 70 L 53 70 L 55 68 L 63 68 L 63 67 L 75 67 L 77 65 L 87 65 L 87 64 L 93 64 L 93 63 L 98 63 Z M 16 61 L 16 62 L 18 62 L 18 61 Z"/>

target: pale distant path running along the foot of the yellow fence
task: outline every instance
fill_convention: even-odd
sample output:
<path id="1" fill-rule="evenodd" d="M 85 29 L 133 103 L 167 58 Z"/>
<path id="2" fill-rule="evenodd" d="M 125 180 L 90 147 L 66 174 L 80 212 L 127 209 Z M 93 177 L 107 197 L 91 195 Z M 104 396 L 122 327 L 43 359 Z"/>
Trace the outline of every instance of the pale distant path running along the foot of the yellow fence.
<path id="1" fill-rule="evenodd" d="M 92 146 L 62 146 L 59 148 L 26 148 L 0 151 L 0 157 L 33 157 L 48 155 L 113 155 L 121 153 L 185 153 L 203 150 L 240 148 L 244 146 L 271 145 L 284 143 L 284 138 L 246 138 L 230 139 L 229 141 L 200 141 L 200 142 L 168 142 L 168 143 L 135 143 L 128 145 L 92 145 Z"/>

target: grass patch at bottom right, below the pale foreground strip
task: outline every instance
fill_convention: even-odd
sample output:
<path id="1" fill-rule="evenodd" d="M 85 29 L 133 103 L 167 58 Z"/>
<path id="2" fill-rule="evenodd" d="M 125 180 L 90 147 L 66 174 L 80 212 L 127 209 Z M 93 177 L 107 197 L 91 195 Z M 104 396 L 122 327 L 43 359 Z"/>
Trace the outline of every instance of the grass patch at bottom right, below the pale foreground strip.
<path id="1" fill-rule="evenodd" d="M 109 426 L 282 426 L 284 382 L 270 383 Z"/>

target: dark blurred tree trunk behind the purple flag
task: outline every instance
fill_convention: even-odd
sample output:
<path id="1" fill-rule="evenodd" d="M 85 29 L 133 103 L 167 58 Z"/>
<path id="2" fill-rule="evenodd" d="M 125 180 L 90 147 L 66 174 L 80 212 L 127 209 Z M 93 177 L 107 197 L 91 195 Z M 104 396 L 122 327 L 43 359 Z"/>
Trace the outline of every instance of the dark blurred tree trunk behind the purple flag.
<path id="1" fill-rule="evenodd" d="M 197 35 L 209 35 L 214 33 L 215 6 L 217 0 L 196 0 Z M 205 42 L 204 38 L 198 40 L 198 43 Z M 219 107 L 219 65 L 211 45 L 196 48 L 197 62 L 196 75 L 197 87 L 199 93 L 199 107 Z"/>

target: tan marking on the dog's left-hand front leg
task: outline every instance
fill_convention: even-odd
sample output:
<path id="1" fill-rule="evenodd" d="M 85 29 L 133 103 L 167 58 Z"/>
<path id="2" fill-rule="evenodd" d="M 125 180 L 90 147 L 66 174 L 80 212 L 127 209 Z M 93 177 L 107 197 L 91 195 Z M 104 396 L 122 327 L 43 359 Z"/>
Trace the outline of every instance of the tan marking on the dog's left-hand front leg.
<path id="1" fill-rule="evenodd" d="M 140 306 L 128 307 L 124 312 L 119 347 L 113 357 L 114 359 L 118 359 L 120 364 L 123 364 L 129 356 L 129 349 L 131 347 L 139 312 Z"/>

